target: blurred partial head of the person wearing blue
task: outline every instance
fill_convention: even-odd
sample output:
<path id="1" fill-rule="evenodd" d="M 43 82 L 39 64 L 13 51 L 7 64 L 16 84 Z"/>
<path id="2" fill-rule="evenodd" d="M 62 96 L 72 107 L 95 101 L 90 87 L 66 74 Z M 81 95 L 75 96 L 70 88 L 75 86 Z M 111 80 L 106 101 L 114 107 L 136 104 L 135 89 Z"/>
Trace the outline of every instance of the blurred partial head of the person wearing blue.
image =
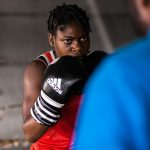
<path id="1" fill-rule="evenodd" d="M 150 27 L 150 0 L 129 0 L 133 19 L 143 32 Z"/>

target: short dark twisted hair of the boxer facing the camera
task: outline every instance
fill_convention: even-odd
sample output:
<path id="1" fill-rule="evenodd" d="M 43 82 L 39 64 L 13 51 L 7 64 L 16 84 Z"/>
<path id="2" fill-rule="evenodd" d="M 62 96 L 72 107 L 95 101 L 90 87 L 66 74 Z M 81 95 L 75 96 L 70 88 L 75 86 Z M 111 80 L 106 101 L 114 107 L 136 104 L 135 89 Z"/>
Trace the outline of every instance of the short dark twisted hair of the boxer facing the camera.
<path id="1" fill-rule="evenodd" d="M 48 31 L 54 35 L 58 28 L 61 29 L 61 27 L 70 22 L 80 24 L 87 33 L 91 31 L 89 17 L 85 10 L 79 8 L 77 5 L 66 5 L 65 3 L 61 6 L 56 6 L 56 8 L 50 11 L 47 21 Z"/>

